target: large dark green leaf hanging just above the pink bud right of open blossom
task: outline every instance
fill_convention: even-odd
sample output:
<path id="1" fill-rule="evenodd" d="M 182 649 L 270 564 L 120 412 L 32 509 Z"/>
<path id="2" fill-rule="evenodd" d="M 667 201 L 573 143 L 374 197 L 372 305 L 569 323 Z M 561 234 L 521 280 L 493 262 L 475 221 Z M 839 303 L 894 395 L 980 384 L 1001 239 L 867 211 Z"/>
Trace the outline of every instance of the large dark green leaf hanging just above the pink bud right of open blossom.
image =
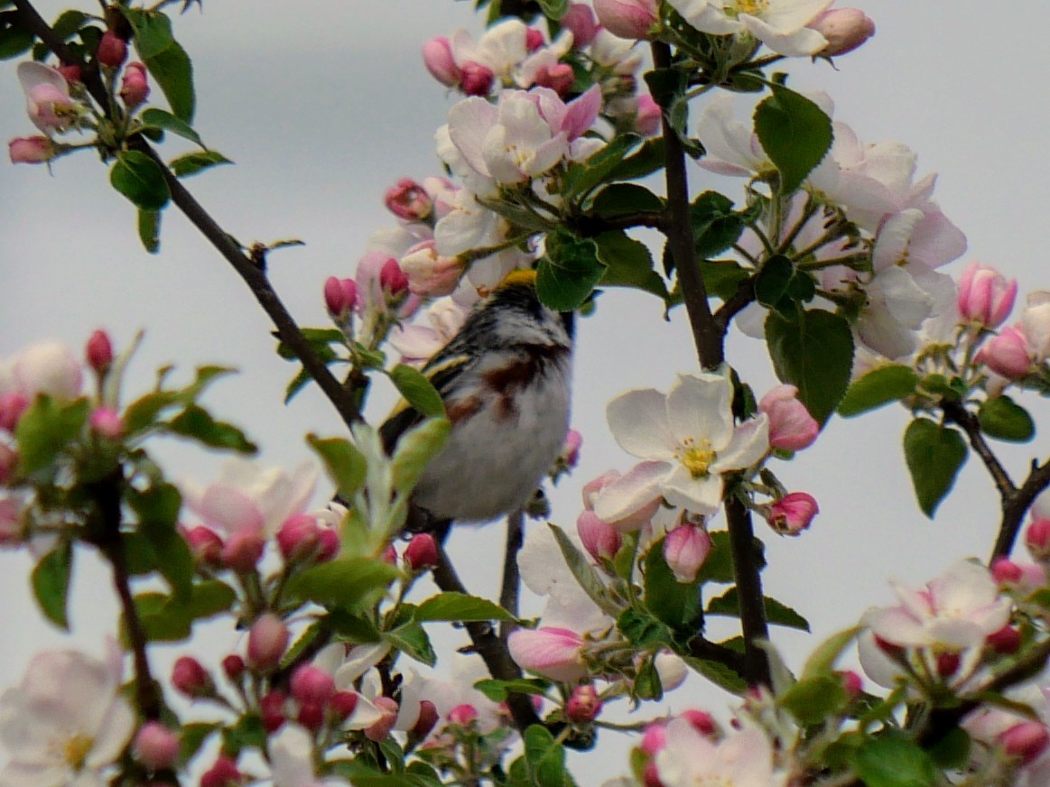
<path id="1" fill-rule="evenodd" d="M 845 318 L 820 309 L 797 310 L 795 319 L 776 312 L 765 318 L 765 340 L 781 382 L 821 424 L 842 401 L 853 368 L 853 332 Z"/>

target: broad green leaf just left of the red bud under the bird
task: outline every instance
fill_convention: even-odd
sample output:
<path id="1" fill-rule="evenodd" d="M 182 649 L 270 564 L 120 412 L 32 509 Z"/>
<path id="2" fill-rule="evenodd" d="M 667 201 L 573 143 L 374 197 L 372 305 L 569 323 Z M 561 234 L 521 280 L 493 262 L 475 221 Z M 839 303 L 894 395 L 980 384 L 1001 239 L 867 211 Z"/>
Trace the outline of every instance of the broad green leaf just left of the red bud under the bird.
<path id="1" fill-rule="evenodd" d="M 384 560 L 340 557 L 307 569 L 288 583 L 288 592 L 302 600 L 351 614 L 372 607 L 398 576 Z"/>

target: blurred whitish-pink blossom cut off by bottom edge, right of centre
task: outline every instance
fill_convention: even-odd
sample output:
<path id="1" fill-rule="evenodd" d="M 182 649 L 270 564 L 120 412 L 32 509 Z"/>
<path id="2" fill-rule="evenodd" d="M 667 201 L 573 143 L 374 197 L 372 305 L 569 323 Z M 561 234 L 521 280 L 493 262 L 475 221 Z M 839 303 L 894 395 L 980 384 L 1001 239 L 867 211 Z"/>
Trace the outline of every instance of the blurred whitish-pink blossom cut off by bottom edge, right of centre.
<path id="1" fill-rule="evenodd" d="M 667 725 L 656 770 L 665 787 L 783 787 L 790 775 L 774 768 L 773 746 L 761 730 L 746 727 L 715 742 L 687 719 Z"/>

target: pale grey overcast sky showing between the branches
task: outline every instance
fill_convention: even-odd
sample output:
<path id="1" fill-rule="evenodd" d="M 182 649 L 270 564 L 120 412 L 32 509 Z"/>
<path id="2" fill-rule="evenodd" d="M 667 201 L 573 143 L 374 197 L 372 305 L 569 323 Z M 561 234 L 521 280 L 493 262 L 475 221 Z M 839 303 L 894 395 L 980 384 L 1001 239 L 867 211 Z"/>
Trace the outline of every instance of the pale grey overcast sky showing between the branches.
<path id="1" fill-rule="evenodd" d="M 47 18 L 63 7 L 38 5 Z M 985 3 L 857 5 L 875 19 L 876 37 L 840 59 L 838 70 L 796 63 L 792 84 L 826 90 L 836 118 L 863 140 L 905 142 L 919 153 L 920 174 L 940 173 L 936 198 L 969 239 L 949 273 L 976 259 L 1020 278 L 1022 292 L 1050 289 L 1043 236 L 1050 205 L 1050 10 L 1033 0 L 1011 4 L 1009 18 L 992 29 Z M 324 278 L 352 275 L 368 236 L 391 222 L 384 189 L 402 176 L 438 172 L 433 134 L 452 102 L 422 68 L 419 46 L 458 26 L 478 30 L 471 7 L 462 0 L 254 0 L 245 13 L 243 3 L 208 0 L 205 14 L 194 9 L 176 20 L 176 37 L 196 69 L 195 126 L 210 147 L 236 162 L 187 185 L 245 243 L 306 241 L 274 253 L 270 263 L 301 324 L 324 323 Z M 0 63 L 0 139 L 33 131 L 21 102 L 15 62 Z M 691 175 L 694 190 L 711 187 L 698 168 Z M 723 187 L 740 198 L 738 183 Z M 631 387 L 666 390 L 675 373 L 695 370 L 681 315 L 665 323 L 660 314 L 651 296 L 609 293 L 597 314 L 581 321 L 573 423 L 584 434 L 583 461 L 553 494 L 554 522 L 572 526 L 584 481 L 631 464 L 607 433 L 605 403 Z M 52 176 L 41 167 L 0 164 L 0 357 L 42 338 L 79 352 L 99 326 L 122 346 L 146 331 L 130 391 L 143 390 L 165 363 L 186 375 L 205 363 L 238 366 L 242 374 L 217 385 L 207 402 L 247 428 L 267 463 L 291 467 L 309 458 L 307 431 L 339 432 L 338 419 L 314 391 L 281 404 L 293 368 L 273 354 L 271 325 L 173 209 L 165 215 L 162 253 L 149 256 L 139 246 L 133 209 L 109 189 L 91 153 L 58 162 Z M 730 358 L 757 391 L 773 383 L 760 343 L 735 339 Z M 1037 400 L 1025 401 L 1038 419 Z M 376 420 L 385 406 L 377 402 Z M 833 419 L 815 447 L 778 468 L 790 488 L 817 496 L 821 514 L 800 538 L 761 533 L 771 563 L 765 590 L 806 615 L 818 636 L 889 601 L 886 578 L 922 583 L 959 557 L 990 550 L 996 495 L 975 461 L 934 522 L 919 512 L 900 448 L 906 421 L 900 408 Z M 1003 451 L 1015 477 L 1040 455 L 1038 445 Z M 215 458 L 178 445 L 159 452 L 175 477 L 207 480 L 217 466 Z M 453 536 L 460 563 L 479 567 L 477 575 L 463 570 L 471 590 L 495 595 L 497 578 L 487 570 L 501 544 L 502 526 Z M 108 578 L 89 563 L 78 566 L 74 639 L 98 652 L 114 617 L 102 590 Z M 17 681 L 32 653 L 68 641 L 37 613 L 29 570 L 26 555 L 0 553 L 2 684 Z M 235 634 L 209 631 L 216 653 L 236 641 Z M 816 642 L 779 632 L 776 641 L 796 663 Z M 673 699 L 680 708 L 713 695 Z M 626 772 L 626 754 L 611 766 L 610 773 Z"/>

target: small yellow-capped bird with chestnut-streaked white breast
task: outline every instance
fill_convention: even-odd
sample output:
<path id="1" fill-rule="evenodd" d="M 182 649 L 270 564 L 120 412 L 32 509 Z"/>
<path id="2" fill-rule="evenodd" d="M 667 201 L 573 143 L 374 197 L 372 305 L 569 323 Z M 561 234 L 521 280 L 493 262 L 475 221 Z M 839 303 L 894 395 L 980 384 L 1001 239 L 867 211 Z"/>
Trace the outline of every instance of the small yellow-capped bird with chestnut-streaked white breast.
<path id="1" fill-rule="evenodd" d="M 540 302 L 534 271 L 513 271 L 427 361 L 453 428 L 413 493 L 424 529 L 495 519 L 536 491 L 568 433 L 572 317 Z M 386 451 L 422 419 L 402 403 L 379 429 Z"/>

